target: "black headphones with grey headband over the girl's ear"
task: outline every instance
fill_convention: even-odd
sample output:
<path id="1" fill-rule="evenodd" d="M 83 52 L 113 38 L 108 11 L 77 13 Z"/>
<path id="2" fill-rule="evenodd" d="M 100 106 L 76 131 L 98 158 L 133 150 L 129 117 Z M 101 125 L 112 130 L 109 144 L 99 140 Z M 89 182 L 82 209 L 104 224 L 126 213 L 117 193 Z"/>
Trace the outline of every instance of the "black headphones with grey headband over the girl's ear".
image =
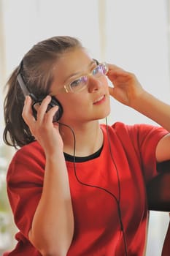
<path id="1" fill-rule="evenodd" d="M 33 115 L 34 115 L 34 118 L 36 118 L 37 108 L 39 107 L 39 105 L 41 105 L 42 100 L 45 99 L 45 97 L 36 98 L 36 96 L 34 94 L 32 94 L 31 91 L 28 90 L 28 87 L 26 86 L 26 83 L 24 82 L 23 77 L 20 74 L 20 71 L 18 72 L 17 80 L 20 85 L 20 89 L 22 89 L 22 91 L 23 91 L 23 95 L 25 97 L 27 95 L 31 97 L 31 99 L 33 101 L 33 103 L 32 103 Z M 62 108 L 61 103 L 58 101 L 58 99 L 56 99 L 54 96 L 52 96 L 52 99 L 51 99 L 49 105 L 47 106 L 47 111 L 50 110 L 50 108 L 55 107 L 56 105 L 58 106 L 58 111 L 53 116 L 53 122 L 57 122 L 61 118 L 61 116 L 63 114 L 63 108 Z"/>

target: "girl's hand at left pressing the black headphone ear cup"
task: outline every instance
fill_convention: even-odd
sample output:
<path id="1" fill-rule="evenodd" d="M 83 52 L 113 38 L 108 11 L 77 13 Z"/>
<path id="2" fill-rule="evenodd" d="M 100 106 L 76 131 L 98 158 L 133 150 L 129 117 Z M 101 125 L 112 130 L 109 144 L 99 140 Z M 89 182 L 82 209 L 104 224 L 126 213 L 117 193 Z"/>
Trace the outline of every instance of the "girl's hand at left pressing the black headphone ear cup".
<path id="1" fill-rule="evenodd" d="M 47 105 L 51 97 L 43 99 L 42 104 L 37 110 L 36 119 L 32 113 L 31 97 L 27 96 L 23 107 L 23 119 L 28 125 L 32 135 L 39 141 L 39 144 L 45 150 L 45 154 L 53 154 L 56 149 L 61 148 L 63 151 L 63 140 L 58 130 L 58 123 L 53 123 L 53 116 L 58 110 L 58 106 L 51 108 L 47 113 Z"/>

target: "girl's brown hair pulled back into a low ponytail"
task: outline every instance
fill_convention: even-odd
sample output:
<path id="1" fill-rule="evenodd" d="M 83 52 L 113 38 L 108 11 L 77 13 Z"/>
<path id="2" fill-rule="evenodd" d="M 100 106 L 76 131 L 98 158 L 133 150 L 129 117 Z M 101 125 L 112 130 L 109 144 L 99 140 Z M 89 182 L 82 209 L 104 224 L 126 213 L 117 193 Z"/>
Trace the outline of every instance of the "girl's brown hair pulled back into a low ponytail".
<path id="1" fill-rule="evenodd" d="M 80 41 L 74 37 L 51 37 L 43 40 L 26 53 L 22 67 L 19 65 L 12 72 L 7 81 L 7 95 L 4 99 L 3 139 L 7 145 L 18 148 L 34 141 L 34 136 L 22 117 L 25 97 L 17 81 L 19 70 L 28 90 L 37 98 L 45 97 L 53 82 L 53 66 L 62 53 L 74 48 L 82 48 Z"/>

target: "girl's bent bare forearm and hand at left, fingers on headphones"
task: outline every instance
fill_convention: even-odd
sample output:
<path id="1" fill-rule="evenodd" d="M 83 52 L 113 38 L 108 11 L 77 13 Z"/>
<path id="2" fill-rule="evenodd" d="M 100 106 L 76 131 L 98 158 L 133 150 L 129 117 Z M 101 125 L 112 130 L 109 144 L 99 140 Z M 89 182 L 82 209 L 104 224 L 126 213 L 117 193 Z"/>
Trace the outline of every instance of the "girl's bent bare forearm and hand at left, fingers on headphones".
<path id="1" fill-rule="evenodd" d="M 50 97 L 45 98 L 32 116 L 31 98 L 27 97 L 23 118 L 45 151 L 44 184 L 36 208 L 29 238 L 42 255 L 66 255 L 72 242 L 74 219 L 69 178 L 63 157 L 63 141 L 58 124 L 53 124 L 57 106 L 45 113 Z"/>

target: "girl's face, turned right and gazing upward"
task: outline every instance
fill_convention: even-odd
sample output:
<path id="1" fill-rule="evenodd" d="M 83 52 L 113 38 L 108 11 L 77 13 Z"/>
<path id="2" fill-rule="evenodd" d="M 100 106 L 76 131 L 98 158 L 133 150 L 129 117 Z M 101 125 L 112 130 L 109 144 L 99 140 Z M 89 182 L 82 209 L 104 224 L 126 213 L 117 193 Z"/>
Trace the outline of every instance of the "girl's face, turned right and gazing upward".
<path id="1" fill-rule="evenodd" d="M 89 75 L 97 66 L 93 59 L 90 59 L 84 49 L 78 48 L 63 53 L 61 59 L 54 67 L 54 80 L 51 86 L 51 95 L 55 96 L 63 106 L 63 123 L 72 124 L 75 122 L 87 122 L 105 118 L 110 111 L 109 89 L 107 78 L 101 75 Z M 88 80 L 83 80 L 85 86 L 79 91 L 69 91 L 69 85 L 77 90 L 79 78 L 88 75 Z"/>

